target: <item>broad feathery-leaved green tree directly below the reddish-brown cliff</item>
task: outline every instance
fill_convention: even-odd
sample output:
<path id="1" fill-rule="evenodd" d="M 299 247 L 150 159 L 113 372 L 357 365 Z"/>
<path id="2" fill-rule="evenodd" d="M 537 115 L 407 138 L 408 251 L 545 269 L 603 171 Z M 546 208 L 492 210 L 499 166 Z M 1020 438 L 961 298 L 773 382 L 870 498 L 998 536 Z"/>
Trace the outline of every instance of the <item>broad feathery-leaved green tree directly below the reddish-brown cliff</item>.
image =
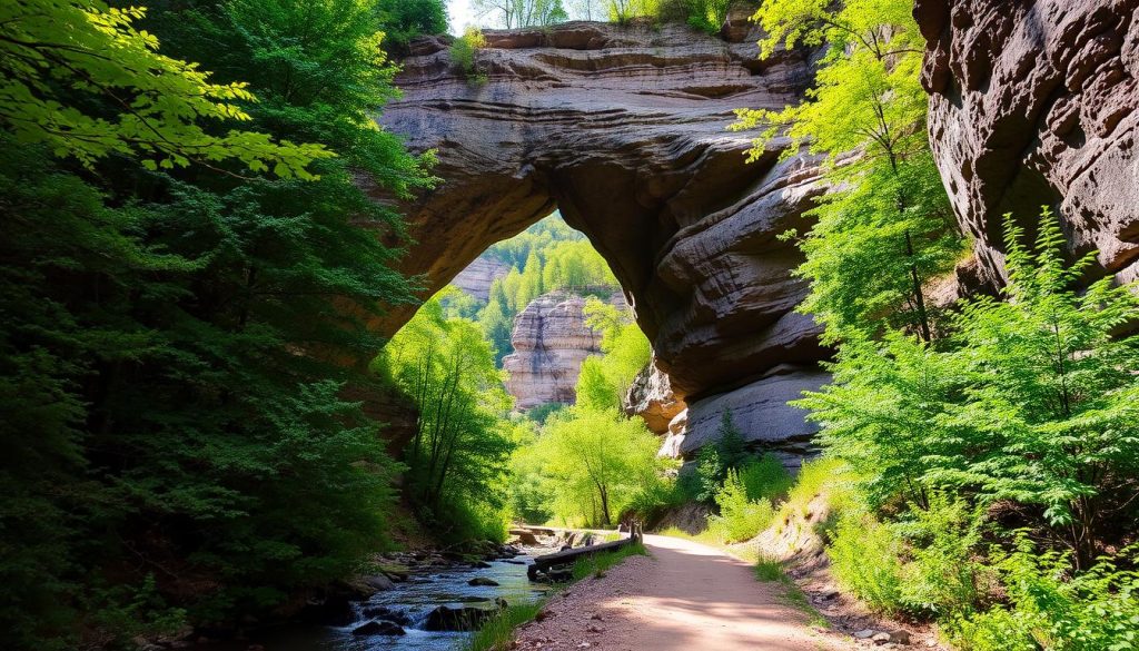
<path id="1" fill-rule="evenodd" d="M 1111 278 L 1077 292 L 1092 259 L 1065 266 L 1047 212 L 1035 251 L 1022 237 L 1006 218 L 1006 300 L 964 303 L 944 350 L 901 334 L 846 345 L 835 384 L 798 404 L 834 454 L 870 473 L 877 503 L 926 508 L 944 487 L 1022 504 L 1082 565 L 1139 494 L 1139 341 L 1113 336 L 1139 299 Z"/>

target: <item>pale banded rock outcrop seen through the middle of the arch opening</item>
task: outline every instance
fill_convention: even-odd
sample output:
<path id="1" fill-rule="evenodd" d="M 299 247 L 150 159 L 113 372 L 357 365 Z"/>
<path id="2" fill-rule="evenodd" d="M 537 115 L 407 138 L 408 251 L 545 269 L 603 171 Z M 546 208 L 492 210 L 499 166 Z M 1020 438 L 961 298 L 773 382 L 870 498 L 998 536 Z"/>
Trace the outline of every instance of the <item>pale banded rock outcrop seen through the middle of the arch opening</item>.
<path id="1" fill-rule="evenodd" d="M 510 335 L 515 351 L 502 359 L 506 390 L 515 407 L 574 402 L 582 363 L 601 352 L 601 334 L 585 325 L 584 308 L 581 296 L 551 292 L 515 317 Z"/>

